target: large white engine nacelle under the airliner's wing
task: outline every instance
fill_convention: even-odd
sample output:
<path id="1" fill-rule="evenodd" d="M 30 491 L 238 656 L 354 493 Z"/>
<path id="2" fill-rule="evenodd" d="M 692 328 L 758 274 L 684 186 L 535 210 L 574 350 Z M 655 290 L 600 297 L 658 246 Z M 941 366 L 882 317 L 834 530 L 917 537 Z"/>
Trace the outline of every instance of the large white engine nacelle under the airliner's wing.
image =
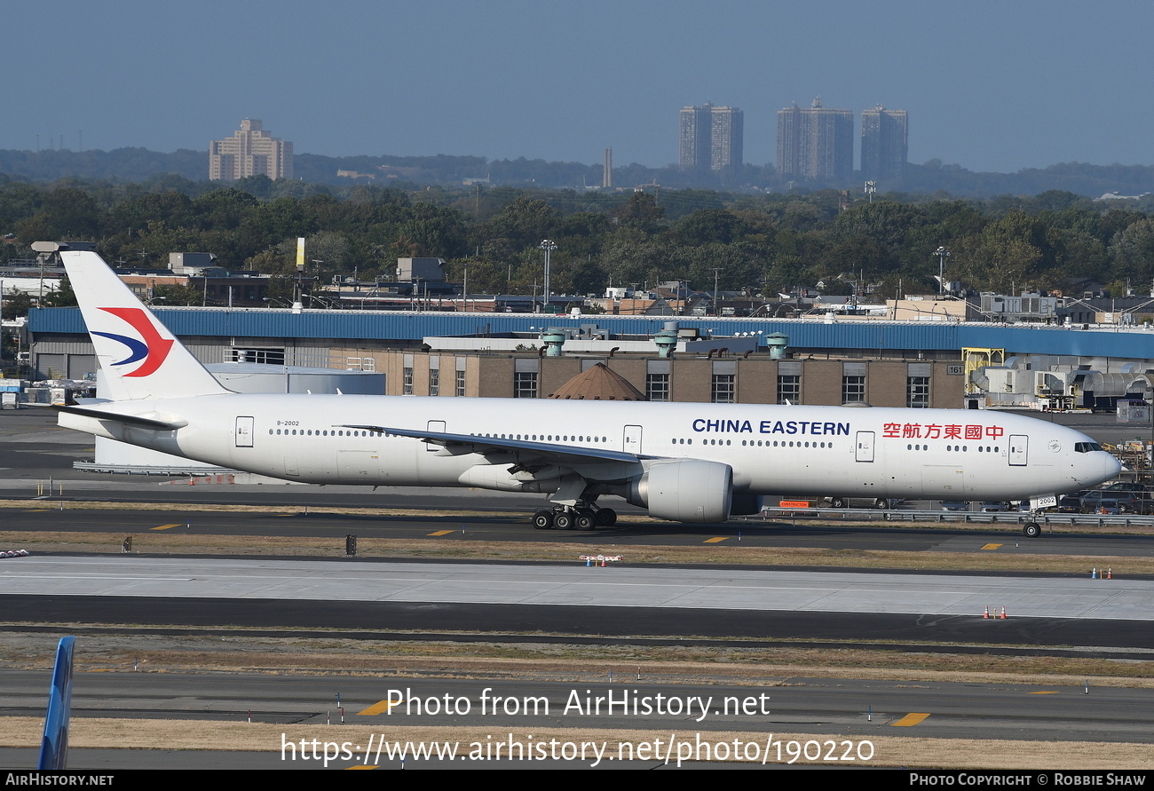
<path id="1" fill-rule="evenodd" d="M 627 499 L 659 520 L 724 522 L 733 499 L 733 468 L 696 458 L 655 462 L 630 486 Z"/>

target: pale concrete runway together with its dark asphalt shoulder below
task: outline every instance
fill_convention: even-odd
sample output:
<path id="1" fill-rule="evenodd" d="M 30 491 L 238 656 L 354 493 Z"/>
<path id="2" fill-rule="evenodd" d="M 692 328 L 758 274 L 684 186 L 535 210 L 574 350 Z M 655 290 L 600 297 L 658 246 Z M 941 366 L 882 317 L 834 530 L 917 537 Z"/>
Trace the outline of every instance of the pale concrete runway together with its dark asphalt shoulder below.
<path id="1" fill-rule="evenodd" d="M 885 641 L 1154 650 L 1154 582 L 958 574 L 299 559 L 29 557 L 0 561 L 9 621 L 260 629 L 388 640 L 597 637 Z M 986 607 L 1006 619 L 983 618 Z M 13 627 L 18 628 L 18 627 Z M 392 637 L 396 635 L 396 637 Z M 1093 647 L 1079 649 L 1077 647 Z M 1123 655 L 1124 652 L 1124 655 Z"/>

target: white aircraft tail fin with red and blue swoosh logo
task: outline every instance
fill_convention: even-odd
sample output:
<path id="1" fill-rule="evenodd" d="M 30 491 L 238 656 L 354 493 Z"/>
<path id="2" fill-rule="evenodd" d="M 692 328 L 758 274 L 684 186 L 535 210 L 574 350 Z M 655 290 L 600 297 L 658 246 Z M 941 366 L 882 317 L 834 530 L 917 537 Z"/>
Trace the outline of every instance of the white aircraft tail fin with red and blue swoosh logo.
<path id="1" fill-rule="evenodd" d="M 61 251 L 113 401 L 228 393 L 99 255 Z"/>

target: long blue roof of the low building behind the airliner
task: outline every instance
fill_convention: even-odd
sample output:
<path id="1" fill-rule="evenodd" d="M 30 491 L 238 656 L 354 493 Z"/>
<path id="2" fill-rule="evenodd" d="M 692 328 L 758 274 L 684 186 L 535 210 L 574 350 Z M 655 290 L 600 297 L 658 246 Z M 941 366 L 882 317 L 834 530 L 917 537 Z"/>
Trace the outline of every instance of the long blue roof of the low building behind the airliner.
<path id="1" fill-rule="evenodd" d="M 419 341 L 429 336 L 534 333 L 546 327 L 597 326 L 614 336 L 652 336 L 676 321 L 703 336 L 782 333 L 796 349 L 950 350 L 1005 349 L 1009 353 L 1154 359 L 1154 329 L 1025 324 L 852 321 L 824 319 L 703 319 L 694 316 L 546 316 L 527 313 L 410 313 L 268 308 L 159 308 L 157 316 L 180 336 L 298 337 L 349 341 Z M 29 331 L 83 334 L 75 307 L 32 308 Z"/>

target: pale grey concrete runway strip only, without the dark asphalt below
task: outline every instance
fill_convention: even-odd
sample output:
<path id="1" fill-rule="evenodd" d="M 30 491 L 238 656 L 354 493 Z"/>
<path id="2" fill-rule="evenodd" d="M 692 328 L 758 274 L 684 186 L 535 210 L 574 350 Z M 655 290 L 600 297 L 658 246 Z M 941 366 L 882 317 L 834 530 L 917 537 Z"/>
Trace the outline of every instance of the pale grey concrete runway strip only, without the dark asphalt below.
<path id="1" fill-rule="evenodd" d="M 454 603 L 1154 621 L 1154 581 L 572 565 L 29 557 L 0 595 Z"/>

